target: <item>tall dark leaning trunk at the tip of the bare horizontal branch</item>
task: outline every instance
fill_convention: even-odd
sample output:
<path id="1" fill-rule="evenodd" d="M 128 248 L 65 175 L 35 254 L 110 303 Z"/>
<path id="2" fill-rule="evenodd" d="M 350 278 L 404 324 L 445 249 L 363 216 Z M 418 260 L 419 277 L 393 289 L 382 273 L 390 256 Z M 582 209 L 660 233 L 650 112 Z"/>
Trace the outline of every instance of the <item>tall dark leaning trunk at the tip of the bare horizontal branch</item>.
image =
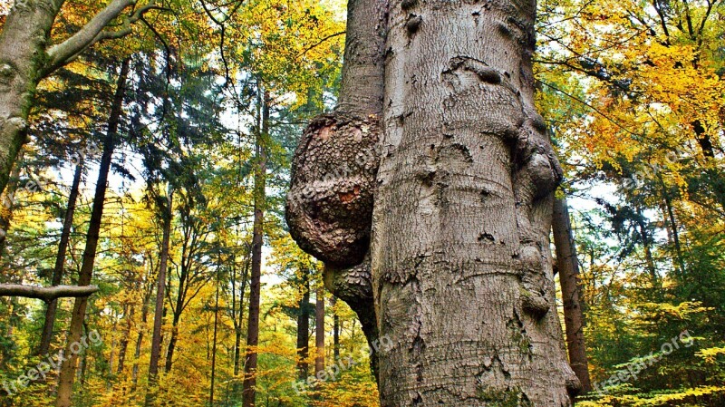
<path id="1" fill-rule="evenodd" d="M 98 247 L 99 233 L 101 231 L 101 221 L 103 217 L 103 204 L 106 199 L 106 183 L 108 182 L 108 174 L 111 170 L 111 160 L 113 158 L 113 150 L 118 143 L 118 130 L 121 123 L 121 114 L 123 113 L 123 97 L 126 92 L 126 82 L 129 75 L 129 66 L 131 59 L 127 58 L 121 63 L 121 73 L 116 83 L 116 92 L 111 102 L 111 114 L 108 121 L 108 131 L 106 139 L 103 142 L 103 152 L 101 156 L 101 165 L 98 170 L 98 181 L 96 182 L 95 195 L 93 196 L 93 208 L 91 212 L 91 221 L 88 226 L 88 234 L 86 236 L 85 250 L 83 251 L 83 261 L 81 265 L 80 276 L 78 278 L 79 286 L 90 286 L 93 276 L 93 265 L 95 264 L 96 248 Z M 88 298 L 82 297 L 75 300 L 73 305 L 73 316 L 71 318 L 70 334 L 68 335 L 68 346 L 65 354 L 68 359 L 63 362 L 61 374 L 58 384 L 58 398 L 56 400 L 57 407 L 70 407 L 71 395 L 73 393 L 73 378 L 75 376 L 75 365 L 78 357 L 71 352 L 71 345 L 81 339 L 83 320 L 85 319 L 85 309 L 88 305 Z"/>

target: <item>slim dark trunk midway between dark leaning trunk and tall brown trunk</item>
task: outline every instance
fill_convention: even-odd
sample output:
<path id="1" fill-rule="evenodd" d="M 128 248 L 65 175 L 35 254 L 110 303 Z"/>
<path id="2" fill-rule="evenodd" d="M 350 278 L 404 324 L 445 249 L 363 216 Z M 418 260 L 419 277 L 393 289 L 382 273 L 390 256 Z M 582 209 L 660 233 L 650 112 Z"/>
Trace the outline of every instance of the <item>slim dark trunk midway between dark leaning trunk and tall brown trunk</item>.
<path id="1" fill-rule="evenodd" d="M 146 393 L 146 407 L 156 401 L 159 376 L 159 358 L 161 355 L 161 326 L 164 319 L 164 296 L 166 291 L 166 271 L 169 264 L 169 239 L 171 236 L 171 221 L 173 220 L 173 189 L 169 185 L 165 208 L 162 208 L 163 237 L 161 238 L 161 253 L 159 259 L 159 281 L 156 288 L 156 308 L 153 315 L 153 335 L 151 336 L 151 356 L 149 362 L 149 391 Z M 140 340 L 140 338 L 139 338 Z"/>

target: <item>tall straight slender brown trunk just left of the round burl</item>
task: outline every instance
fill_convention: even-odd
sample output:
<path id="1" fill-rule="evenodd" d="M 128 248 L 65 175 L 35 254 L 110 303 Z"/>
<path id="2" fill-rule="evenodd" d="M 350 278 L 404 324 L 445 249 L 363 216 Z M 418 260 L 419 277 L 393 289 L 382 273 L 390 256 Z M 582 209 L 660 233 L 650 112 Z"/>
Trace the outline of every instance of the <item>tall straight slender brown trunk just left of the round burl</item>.
<path id="1" fill-rule="evenodd" d="M 258 83 L 261 85 L 261 83 Z M 260 86 L 261 88 L 261 86 Z M 258 92 L 263 92 L 258 89 Z M 256 346 L 259 344 L 259 297 L 261 295 L 262 246 L 265 237 L 266 208 L 266 143 L 269 138 L 269 93 L 260 94 L 260 120 L 257 122 L 256 169 L 254 185 L 254 230 L 252 233 L 252 276 L 249 282 L 249 322 L 247 324 L 247 354 L 242 383 L 242 406 L 254 407 L 256 398 Z"/>

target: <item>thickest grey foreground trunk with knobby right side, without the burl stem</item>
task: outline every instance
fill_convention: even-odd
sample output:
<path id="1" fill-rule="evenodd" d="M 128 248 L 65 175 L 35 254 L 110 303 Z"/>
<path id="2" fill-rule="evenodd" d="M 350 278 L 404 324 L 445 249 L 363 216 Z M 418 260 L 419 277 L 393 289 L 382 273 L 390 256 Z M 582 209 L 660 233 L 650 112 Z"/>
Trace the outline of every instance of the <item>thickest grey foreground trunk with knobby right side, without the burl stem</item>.
<path id="1" fill-rule="evenodd" d="M 393 1 L 372 224 L 383 407 L 569 406 L 534 0 Z"/>

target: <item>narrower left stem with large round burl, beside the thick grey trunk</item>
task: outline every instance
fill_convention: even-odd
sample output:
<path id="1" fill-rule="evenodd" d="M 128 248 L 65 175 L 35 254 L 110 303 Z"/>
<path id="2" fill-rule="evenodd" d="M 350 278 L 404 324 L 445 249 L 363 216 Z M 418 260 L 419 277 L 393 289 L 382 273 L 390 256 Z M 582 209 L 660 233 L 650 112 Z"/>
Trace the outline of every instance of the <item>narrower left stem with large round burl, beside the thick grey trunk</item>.
<path id="1" fill-rule="evenodd" d="M 285 217 L 295 241 L 324 261 L 324 284 L 377 339 L 372 306 L 372 203 L 381 138 L 385 0 L 348 2 L 343 80 L 333 114 L 314 119 L 295 151 Z M 376 356 L 372 356 L 376 371 Z"/>

